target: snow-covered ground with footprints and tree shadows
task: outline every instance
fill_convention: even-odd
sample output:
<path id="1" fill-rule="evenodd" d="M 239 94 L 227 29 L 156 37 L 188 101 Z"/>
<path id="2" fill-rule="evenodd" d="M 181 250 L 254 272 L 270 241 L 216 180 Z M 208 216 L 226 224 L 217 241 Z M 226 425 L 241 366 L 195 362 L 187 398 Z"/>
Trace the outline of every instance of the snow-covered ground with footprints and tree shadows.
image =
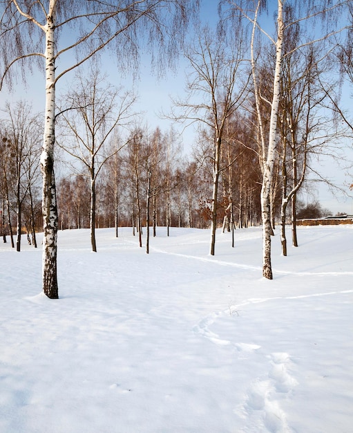
<path id="1" fill-rule="evenodd" d="M 59 232 L 0 243 L 0 432 L 353 432 L 353 225 L 298 228 L 261 276 L 261 230 Z M 40 240 L 39 240 L 40 243 Z"/>

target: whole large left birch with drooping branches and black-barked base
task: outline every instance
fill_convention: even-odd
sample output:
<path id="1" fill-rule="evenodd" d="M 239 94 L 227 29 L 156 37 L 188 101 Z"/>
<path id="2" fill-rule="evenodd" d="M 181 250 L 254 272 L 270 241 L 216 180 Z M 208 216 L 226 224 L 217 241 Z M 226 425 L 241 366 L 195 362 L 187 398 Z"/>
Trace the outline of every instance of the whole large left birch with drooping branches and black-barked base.
<path id="1" fill-rule="evenodd" d="M 159 46 L 157 61 L 173 62 L 198 0 L 1 0 L 0 89 L 7 78 L 13 84 L 13 69 L 19 66 L 23 78 L 31 60 L 45 71 L 46 108 L 43 173 L 43 291 L 59 297 L 57 286 L 57 198 L 54 172 L 55 89 L 68 72 L 104 48 L 117 55 L 120 69 L 138 63 L 139 37 L 149 47 Z M 172 35 L 172 38 L 168 36 Z M 44 47 L 44 49 L 43 49 Z M 70 56 L 70 53 L 73 55 Z M 59 69 L 58 60 L 69 58 Z M 30 62 L 30 63 L 28 63 Z M 62 64 L 67 65 L 66 62 Z M 165 62 L 164 62 L 165 64 Z"/>

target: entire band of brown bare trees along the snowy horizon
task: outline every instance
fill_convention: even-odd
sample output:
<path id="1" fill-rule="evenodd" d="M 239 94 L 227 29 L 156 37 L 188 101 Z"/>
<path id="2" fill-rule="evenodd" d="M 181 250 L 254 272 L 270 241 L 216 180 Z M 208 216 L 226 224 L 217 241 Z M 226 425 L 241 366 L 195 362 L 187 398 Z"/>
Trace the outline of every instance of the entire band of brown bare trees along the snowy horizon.
<path id="1" fill-rule="evenodd" d="M 20 239 L 21 232 L 26 232 L 30 243 L 37 246 L 35 230 L 42 230 L 42 129 L 38 116 L 28 116 L 28 104 L 20 102 L 13 108 L 8 105 L 7 110 L 8 120 L 1 123 L 1 234 L 4 241 L 6 234 L 10 235 L 14 243 L 14 238 Z M 77 136 L 68 133 L 72 124 L 63 125 L 58 140 L 65 140 L 66 154 L 72 155 Z M 227 121 L 224 135 L 220 166 L 225 169 L 220 174 L 216 225 L 227 231 L 261 223 L 261 172 L 256 136 L 251 135 L 249 125 L 249 119 L 237 114 Z M 113 134 L 104 148 L 99 147 L 104 164 L 95 183 L 95 228 L 115 227 L 118 236 L 119 226 L 131 226 L 139 235 L 147 217 L 153 236 L 157 226 L 165 226 L 166 232 L 170 227 L 210 228 L 213 141 L 205 134 L 200 133 L 193 152 L 187 156 L 174 129 L 162 132 L 158 127 L 153 131 L 133 127 L 124 140 Z M 92 223 L 92 176 L 82 156 L 81 151 L 79 165 L 68 165 L 68 161 L 61 165 L 64 175 L 57 185 L 60 230 L 90 228 Z M 278 182 L 274 192 L 273 214 L 277 221 L 281 187 Z M 327 211 L 316 201 L 299 206 L 297 216 L 318 217 L 323 212 Z M 19 250 L 20 243 L 16 243 Z"/>

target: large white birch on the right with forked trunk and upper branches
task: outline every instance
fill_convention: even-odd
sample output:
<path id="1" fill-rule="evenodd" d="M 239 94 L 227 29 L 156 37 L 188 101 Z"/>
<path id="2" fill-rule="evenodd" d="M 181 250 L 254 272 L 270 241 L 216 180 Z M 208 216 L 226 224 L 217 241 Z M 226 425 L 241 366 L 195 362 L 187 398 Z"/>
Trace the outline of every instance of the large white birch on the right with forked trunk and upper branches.
<path id="1" fill-rule="evenodd" d="M 271 267 L 271 185 L 274 180 L 274 167 L 276 166 L 276 145 L 278 142 L 278 109 L 280 102 L 280 80 L 283 68 L 286 30 L 292 26 L 300 27 L 300 39 L 292 52 L 300 50 L 319 41 L 330 42 L 330 37 L 339 33 L 341 28 L 337 26 L 337 18 L 347 5 L 347 1 L 308 1 L 301 4 L 295 1 L 277 0 L 276 6 L 271 12 L 276 13 L 274 32 L 271 33 L 260 24 L 260 14 L 267 7 L 273 6 L 264 0 L 233 1 L 224 0 L 221 5 L 231 5 L 233 12 L 238 11 L 251 23 L 250 57 L 251 73 L 253 78 L 256 116 L 258 121 L 258 142 L 260 146 L 260 167 L 263 172 L 261 188 L 261 213 L 263 222 L 263 277 L 272 279 Z M 293 15 L 289 21 L 284 20 L 285 8 L 292 8 Z M 237 15 L 237 14 L 235 14 Z M 268 26 L 267 26 L 268 27 Z M 273 34 L 273 35 L 272 35 Z M 289 34 L 289 33 L 287 33 Z M 261 51 L 273 50 L 274 62 L 272 68 L 272 85 L 269 98 L 264 98 L 261 92 L 261 76 L 258 68 L 260 50 L 258 42 L 269 42 L 269 46 L 261 46 Z M 327 51 L 330 48 L 326 48 Z M 270 108 L 269 121 L 265 122 L 262 104 L 268 104 Z"/>

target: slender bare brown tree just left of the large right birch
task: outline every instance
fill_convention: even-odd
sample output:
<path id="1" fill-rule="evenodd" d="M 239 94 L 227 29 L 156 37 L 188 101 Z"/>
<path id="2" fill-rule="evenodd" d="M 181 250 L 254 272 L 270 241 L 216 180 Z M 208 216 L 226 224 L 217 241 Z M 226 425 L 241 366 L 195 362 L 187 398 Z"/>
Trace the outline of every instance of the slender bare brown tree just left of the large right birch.
<path id="1" fill-rule="evenodd" d="M 175 118 L 199 122 L 209 131 L 206 140 L 211 144 L 212 198 L 211 198 L 211 242 L 210 255 L 215 254 L 218 184 L 222 167 L 222 138 L 227 120 L 240 107 L 245 83 L 240 77 L 246 76 L 243 66 L 243 35 L 238 32 L 231 38 L 219 37 L 207 27 L 199 28 L 194 44 L 186 51 L 185 57 L 191 66 L 188 77 L 187 102 L 175 102 L 183 112 Z M 240 85 L 239 85 L 240 84 Z"/>

